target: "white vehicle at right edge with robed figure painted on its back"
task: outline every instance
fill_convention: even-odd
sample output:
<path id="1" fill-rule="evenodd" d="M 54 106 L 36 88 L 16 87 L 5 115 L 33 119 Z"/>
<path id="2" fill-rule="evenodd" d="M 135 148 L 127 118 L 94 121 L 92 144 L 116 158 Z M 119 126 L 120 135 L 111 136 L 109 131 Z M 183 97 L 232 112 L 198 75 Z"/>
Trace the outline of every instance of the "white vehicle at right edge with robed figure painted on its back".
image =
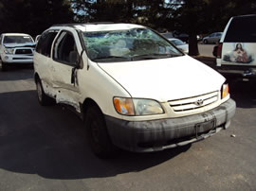
<path id="1" fill-rule="evenodd" d="M 256 77 L 256 14 L 229 20 L 216 50 L 218 70 L 241 78 Z"/>

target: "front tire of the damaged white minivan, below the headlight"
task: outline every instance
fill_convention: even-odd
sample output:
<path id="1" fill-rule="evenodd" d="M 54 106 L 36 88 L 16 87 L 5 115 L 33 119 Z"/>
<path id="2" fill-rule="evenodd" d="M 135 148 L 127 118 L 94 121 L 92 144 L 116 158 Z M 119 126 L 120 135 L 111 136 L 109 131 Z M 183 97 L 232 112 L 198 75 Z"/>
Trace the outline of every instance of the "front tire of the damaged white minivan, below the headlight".
<path id="1" fill-rule="evenodd" d="M 84 125 L 92 152 L 102 159 L 115 156 L 118 148 L 110 140 L 103 114 L 97 105 L 92 105 L 87 109 Z"/>

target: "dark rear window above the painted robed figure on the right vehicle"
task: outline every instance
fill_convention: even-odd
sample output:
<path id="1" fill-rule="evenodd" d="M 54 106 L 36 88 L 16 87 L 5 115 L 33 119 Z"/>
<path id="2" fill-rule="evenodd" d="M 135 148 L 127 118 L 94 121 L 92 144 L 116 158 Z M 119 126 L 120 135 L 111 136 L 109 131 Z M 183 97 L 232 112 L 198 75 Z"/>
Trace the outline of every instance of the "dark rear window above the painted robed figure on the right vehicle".
<path id="1" fill-rule="evenodd" d="M 256 15 L 232 19 L 224 42 L 256 43 Z"/>

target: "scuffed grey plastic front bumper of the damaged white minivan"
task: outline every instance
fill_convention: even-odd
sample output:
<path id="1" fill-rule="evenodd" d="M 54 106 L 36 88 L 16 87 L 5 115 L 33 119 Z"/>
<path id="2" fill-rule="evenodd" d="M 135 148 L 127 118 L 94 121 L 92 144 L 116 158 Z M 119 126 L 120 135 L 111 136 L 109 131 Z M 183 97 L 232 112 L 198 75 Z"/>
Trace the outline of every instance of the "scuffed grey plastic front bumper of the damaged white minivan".
<path id="1" fill-rule="evenodd" d="M 152 152 L 201 141 L 228 129 L 236 109 L 230 99 L 205 113 L 150 121 L 126 121 L 105 115 L 112 143 L 136 152 Z"/>

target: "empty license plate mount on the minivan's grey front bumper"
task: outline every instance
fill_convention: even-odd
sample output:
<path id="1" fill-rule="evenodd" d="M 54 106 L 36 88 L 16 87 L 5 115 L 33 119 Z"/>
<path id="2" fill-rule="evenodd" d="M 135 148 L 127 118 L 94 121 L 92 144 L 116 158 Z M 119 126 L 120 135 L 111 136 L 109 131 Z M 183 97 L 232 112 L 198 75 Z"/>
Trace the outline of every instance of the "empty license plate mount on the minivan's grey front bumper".
<path id="1" fill-rule="evenodd" d="M 210 130 L 216 130 L 216 120 L 212 119 L 207 122 L 198 123 L 194 126 L 196 139 L 200 137 L 203 133 L 209 132 Z"/>

